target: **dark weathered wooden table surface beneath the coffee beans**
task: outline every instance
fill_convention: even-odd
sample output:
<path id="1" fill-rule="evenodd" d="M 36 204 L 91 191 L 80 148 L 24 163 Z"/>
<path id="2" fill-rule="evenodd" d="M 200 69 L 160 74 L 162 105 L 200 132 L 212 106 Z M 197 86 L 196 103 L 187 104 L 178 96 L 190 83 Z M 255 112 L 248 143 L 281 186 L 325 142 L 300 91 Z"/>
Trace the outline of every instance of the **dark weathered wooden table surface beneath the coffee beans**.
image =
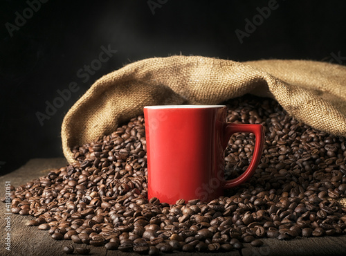
<path id="1" fill-rule="evenodd" d="M 23 185 L 31 179 L 44 176 L 49 170 L 66 165 L 64 158 L 37 158 L 32 159 L 26 165 L 20 167 L 15 172 L 0 176 L 0 197 L 5 194 L 5 183 L 10 181 L 11 185 L 17 187 Z M 0 255 L 65 255 L 62 248 L 65 245 L 81 246 L 72 241 L 55 241 L 48 234 L 48 231 L 38 230 L 37 227 L 25 225 L 30 216 L 20 216 L 17 214 L 6 214 L 5 203 L 0 202 Z M 10 216 L 10 251 L 6 250 L 6 217 Z M 346 255 L 346 235 L 339 237 L 313 237 L 296 238 L 287 241 L 277 239 L 262 239 L 264 246 L 255 248 L 249 244 L 244 244 L 242 250 L 233 250 L 229 253 L 170 253 L 169 255 Z M 91 251 L 89 255 L 137 255 L 136 253 L 122 253 L 118 250 L 106 250 L 104 247 L 88 246 Z M 161 254 L 163 255 L 163 254 Z"/>

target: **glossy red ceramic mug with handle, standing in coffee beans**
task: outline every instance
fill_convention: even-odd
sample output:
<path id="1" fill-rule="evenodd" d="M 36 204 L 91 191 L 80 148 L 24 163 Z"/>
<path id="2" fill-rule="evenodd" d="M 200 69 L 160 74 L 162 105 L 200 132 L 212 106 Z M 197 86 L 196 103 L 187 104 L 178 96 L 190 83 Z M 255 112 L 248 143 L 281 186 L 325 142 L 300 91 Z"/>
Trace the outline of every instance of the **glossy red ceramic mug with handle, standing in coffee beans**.
<path id="1" fill-rule="evenodd" d="M 144 116 L 149 199 L 210 201 L 247 181 L 260 162 L 264 127 L 226 122 L 226 106 L 147 106 Z M 226 181 L 224 152 L 235 132 L 255 134 L 255 148 L 248 169 Z"/>

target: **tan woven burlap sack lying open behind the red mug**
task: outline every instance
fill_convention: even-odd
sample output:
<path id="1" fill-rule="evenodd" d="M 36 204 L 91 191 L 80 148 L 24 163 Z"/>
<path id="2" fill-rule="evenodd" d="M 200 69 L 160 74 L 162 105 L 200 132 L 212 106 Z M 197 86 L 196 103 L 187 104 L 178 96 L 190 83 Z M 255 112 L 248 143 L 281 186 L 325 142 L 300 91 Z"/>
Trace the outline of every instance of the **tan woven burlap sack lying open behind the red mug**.
<path id="1" fill-rule="evenodd" d="M 217 104 L 245 93 L 275 98 L 291 116 L 346 136 L 346 67 L 304 60 L 233 62 L 198 56 L 134 62 L 97 80 L 62 123 L 62 147 L 110 134 L 155 104 Z"/>

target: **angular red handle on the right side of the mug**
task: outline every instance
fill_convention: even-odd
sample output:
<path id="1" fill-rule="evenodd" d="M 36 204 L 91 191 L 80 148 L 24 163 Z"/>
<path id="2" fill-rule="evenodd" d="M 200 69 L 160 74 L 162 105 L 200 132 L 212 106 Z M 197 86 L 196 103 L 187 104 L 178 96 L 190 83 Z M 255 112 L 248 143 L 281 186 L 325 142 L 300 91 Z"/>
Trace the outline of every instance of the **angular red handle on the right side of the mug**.
<path id="1" fill-rule="evenodd" d="M 231 179 L 229 181 L 224 181 L 224 189 L 234 188 L 237 185 L 240 185 L 250 179 L 255 172 L 257 165 L 260 163 L 262 156 L 264 145 L 264 127 L 262 125 L 233 124 L 229 122 L 226 123 L 226 133 L 224 138 L 225 145 L 228 144 L 230 136 L 232 136 L 232 134 L 236 132 L 251 132 L 255 134 L 255 149 L 253 150 L 253 158 L 250 165 L 248 165 L 248 169 L 246 169 L 246 171 L 239 177 Z"/>

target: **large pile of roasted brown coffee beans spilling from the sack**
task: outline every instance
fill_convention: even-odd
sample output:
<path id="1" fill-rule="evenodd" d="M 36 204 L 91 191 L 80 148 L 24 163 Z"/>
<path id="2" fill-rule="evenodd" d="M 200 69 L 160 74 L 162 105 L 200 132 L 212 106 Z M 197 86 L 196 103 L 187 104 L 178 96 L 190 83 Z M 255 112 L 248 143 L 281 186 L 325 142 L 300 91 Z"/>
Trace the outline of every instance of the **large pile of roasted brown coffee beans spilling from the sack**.
<path id="1" fill-rule="evenodd" d="M 346 208 L 338 203 L 346 194 L 345 138 L 304 125 L 274 100 L 246 95 L 226 104 L 229 122 L 262 124 L 266 137 L 253 178 L 225 196 L 174 205 L 147 199 L 145 127 L 138 116 L 74 147 L 75 163 L 12 190 L 12 212 L 36 217 L 28 226 L 56 240 L 149 255 L 345 234 Z M 254 145 L 253 134 L 230 138 L 228 179 L 246 170 Z"/>

